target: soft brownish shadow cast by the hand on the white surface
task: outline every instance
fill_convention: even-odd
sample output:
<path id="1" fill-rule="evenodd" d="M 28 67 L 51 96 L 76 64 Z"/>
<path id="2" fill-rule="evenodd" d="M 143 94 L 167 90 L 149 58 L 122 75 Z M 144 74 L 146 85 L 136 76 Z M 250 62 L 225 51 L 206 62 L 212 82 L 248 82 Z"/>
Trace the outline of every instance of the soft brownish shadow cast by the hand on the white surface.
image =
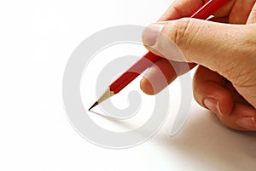
<path id="1" fill-rule="evenodd" d="M 174 137 L 161 134 L 160 145 L 165 151 L 175 149 L 188 161 L 212 167 L 213 170 L 218 170 L 219 166 L 225 170 L 255 168 L 256 133 L 225 128 L 214 115 L 207 111 L 203 114 L 199 119 L 189 122 Z"/>

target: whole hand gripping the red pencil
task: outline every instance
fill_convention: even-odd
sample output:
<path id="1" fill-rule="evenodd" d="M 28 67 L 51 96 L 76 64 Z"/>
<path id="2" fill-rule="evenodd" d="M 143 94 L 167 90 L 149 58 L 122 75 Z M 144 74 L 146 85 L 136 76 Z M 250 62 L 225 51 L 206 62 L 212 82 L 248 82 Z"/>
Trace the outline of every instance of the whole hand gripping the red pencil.
<path id="1" fill-rule="evenodd" d="M 146 48 L 163 58 L 148 70 L 141 88 L 146 94 L 165 88 L 157 80 L 160 73 L 156 66 L 172 83 L 177 75 L 188 71 L 176 73 L 173 66 L 182 68 L 184 62 L 190 68 L 199 65 L 193 81 L 195 100 L 227 127 L 256 131 L 256 1 L 230 0 L 211 21 L 180 19 L 203 2 L 177 0 L 160 18 L 170 21 L 145 29 Z M 166 42 L 162 35 L 172 41 Z M 182 51 L 183 58 L 173 55 L 172 43 Z"/>

